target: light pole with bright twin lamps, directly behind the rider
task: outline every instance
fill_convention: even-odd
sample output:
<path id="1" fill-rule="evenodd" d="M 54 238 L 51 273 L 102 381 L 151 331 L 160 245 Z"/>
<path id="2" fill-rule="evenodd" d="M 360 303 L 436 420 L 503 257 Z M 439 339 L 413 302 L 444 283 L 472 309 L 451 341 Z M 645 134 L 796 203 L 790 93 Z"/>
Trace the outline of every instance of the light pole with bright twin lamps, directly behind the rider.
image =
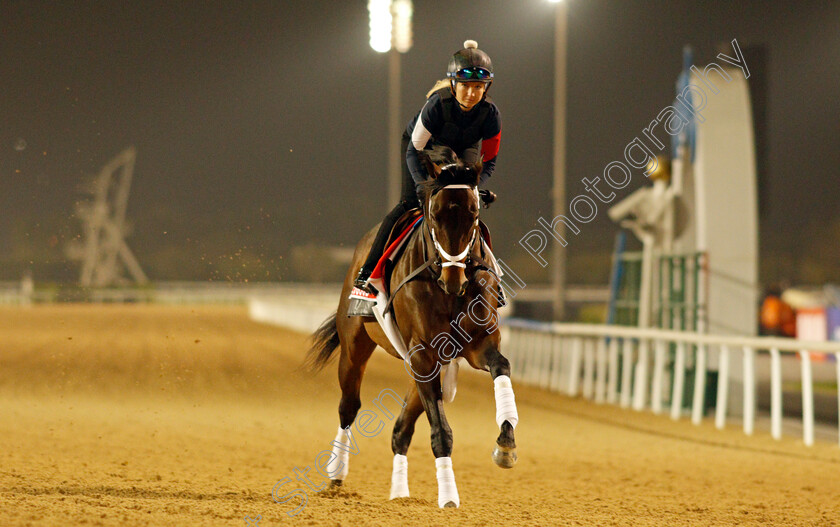
<path id="1" fill-rule="evenodd" d="M 369 0 L 370 47 L 388 53 L 388 210 L 400 199 L 400 53 L 411 49 L 411 0 Z"/>

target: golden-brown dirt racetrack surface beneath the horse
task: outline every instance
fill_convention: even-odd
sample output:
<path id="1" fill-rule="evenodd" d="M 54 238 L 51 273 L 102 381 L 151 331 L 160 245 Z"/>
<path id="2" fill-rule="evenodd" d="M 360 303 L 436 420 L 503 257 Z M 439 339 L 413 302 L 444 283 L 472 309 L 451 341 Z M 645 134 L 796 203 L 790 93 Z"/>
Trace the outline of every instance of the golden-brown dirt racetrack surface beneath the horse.
<path id="1" fill-rule="evenodd" d="M 523 386 L 519 463 L 499 469 L 486 373 L 462 374 L 447 406 L 461 508 L 437 508 L 421 417 L 411 498 L 388 501 L 386 420 L 358 438 L 341 492 L 308 491 L 288 516 L 299 502 L 276 503 L 272 487 L 313 467 L 338 424 L 335 363 L 304 374 L 304 351 L 305 336 L 241 307 L 0 309 L 0 525 L 840 525 L 836 445 Z M 402 365 L 377 352 L 362 408 L 407 386 Z"/>

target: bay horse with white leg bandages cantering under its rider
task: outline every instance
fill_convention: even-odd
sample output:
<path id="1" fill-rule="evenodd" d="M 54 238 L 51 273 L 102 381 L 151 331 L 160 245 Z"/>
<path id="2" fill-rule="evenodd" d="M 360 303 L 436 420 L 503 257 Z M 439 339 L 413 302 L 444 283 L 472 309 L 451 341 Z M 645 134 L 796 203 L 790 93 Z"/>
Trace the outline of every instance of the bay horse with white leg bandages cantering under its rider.
<path id="1" fill-rule="evenodd" d="M 435 455 L 438 506 L 458 507 L 460 499 L 450 457 L 452 430 L 443 407 L 442 369 L 456 358 L 464 358 L 473 368 L 490 372 L 500 429 L 492 458 L 502 468 L 512 468 L 516 463 L 514 428 L 519 418 L 510 364 L 499 351 L 496 309 L 500 280 L 481 258 L 477 190 L 481 163 L 465 164 L 451 150 L 440 147 L 431 154 L 421 152 L 421 160 L 429 174 L 421 189 L 424 217 L 407 241 L 389 281 L 394 320 L 411 352 L 402 357 L 376 320 L 347 316 L 355 271 L 367 255 L 376 233 L 374 228 L 356 246 L 336 314 L 312 335 L 307 359 L 310 368 L 318 370 L 327 364 L 337 347 L 341 350 L 340 424 L 333 456 L 326 465 L 331 486 L 340 486 L 347 476 L 349 449 L 337 448 L 337 444 L 352 441 L 350 425 L 361 407 L 359 390 L 365 365 L 379 345 L 404 360 L 413 377 L 405 400 L 401 401 L 404 406 L 391 438 L 394 463 L 390 499 L 409 496 L 406 453 L 415 422 L 425 412 Z M 426 267 L 421 272 L 411 276 L 423 266 Z M 403 283 L 407 277 L 409 281 Z M 402 287 L 395 291 L 398 284 Z"/>

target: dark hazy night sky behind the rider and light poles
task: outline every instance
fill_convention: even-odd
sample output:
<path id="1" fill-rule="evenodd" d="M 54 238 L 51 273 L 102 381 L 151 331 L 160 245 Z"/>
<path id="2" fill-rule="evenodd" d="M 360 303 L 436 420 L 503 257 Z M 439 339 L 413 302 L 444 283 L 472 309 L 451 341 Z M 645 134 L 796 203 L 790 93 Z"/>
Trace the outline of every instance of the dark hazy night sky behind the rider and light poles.
<path id="1" fill-rule="evenodd" d="M 386 212 L 387 57 L 366 2 L 0 6 L 0 279 L 75 279 L 62 247 L 80 183 L 130 145 L 128 240 L 153 279 L 293 279 L 293 247 L 352 246 Z M 503 132 L 483 215 L 497 252 L 525 262 L 515 242 L 552 210 L 554 6 L 414 6 L 401 120 L 465 39 L 490 54 Z M 765 86 L 762 279 L 840 280 L 838 21 L 837 1 L 571 0 L 568 194 L 670 103 L 683 45 L 702 67 L 737 38 L 764 52 L 747 57 Z M 570 280 L 607 282 L 615 232 L 599 211 Z"/>

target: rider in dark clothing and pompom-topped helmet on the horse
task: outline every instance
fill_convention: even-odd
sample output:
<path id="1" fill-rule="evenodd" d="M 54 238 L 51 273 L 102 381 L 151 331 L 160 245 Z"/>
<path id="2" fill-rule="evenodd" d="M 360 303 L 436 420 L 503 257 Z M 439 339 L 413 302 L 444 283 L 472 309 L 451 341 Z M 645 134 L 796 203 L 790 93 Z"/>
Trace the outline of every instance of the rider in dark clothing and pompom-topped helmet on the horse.
<path id="1" fill-rule="evenodd" d="M 367 260 L 359 270 L 354 285 L 368 290 L 368 279 L 382 257 L 394 224 L 408 210 L 422 206 L 418 198 L 420 183 L 428 174 L 418 158 L 418 151 L 435 145 L 451 148 L 464 162 L 482 161 L 479 178 L 484 184 L 496 167 L 496 154 L 502 123 L 499 109 L 487 97 L 493 83 L 493 63 L 474 40 L 464 42 L 464 49 L 449 59 L 447 80 L 438 81 L 429 92 L 426 104 L 409 121 L 403 132 L 405 150 L 400 202 L 385 216 L 376 233 Z M 479 192 L 485 207 L 496 199 L 488 190 Z"/>

